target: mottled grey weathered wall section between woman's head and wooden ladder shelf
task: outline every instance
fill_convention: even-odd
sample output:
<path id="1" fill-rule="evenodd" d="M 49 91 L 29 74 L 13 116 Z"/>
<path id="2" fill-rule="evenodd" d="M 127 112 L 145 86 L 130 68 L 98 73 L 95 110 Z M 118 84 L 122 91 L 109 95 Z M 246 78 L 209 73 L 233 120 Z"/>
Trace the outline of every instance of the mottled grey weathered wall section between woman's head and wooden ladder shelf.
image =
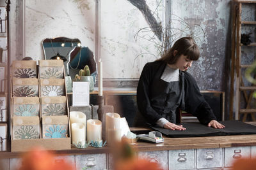
<path id="1" fill-rule="evenodd" d="M 228 78 L 225 76 L 228 67 L 225 66 L 227 46 L 230 46 L 230 0 L 173 0 L 170 3 L 173 27 L 193 32 L 196 43 L 201 48 L 201 57 L 193 62 L 189 69 L 200 87 L 200 90 L 225 91 Z M 180 24 L 180 21 L 183 20 Z M 192 27 L 188 29 L 188 26 Z M 200 25 L 200 27 L 198 27 Z M 177 31 L 177 30 L 173 30 Z M 182 34 L 186 36 L 186 33 Z"/>

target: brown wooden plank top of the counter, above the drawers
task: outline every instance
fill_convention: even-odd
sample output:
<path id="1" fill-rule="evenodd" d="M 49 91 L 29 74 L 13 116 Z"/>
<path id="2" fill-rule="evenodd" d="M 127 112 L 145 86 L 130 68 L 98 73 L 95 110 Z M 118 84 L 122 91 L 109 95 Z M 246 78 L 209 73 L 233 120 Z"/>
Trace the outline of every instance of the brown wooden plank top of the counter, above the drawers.
<path id="1" fill-rule="evenodd" d="M 136 130 L 137 128 L 132 128 Z M 234 136 L 210 136 L 196 138 L 166 138 L 163 143 L 145 143 L 138 141 L 132 145 L 138 152 L 150 152 L 161 150 L 188 150 L 198 148 L 228 148 L 238 146 L 256 146 L 256 135 L 234 135 Z M 111 148 L 88 147 L 85 149 L 72 148 L 71 150 L 57 150 L 57 154 L 80 155 L 109 153 Z M 0 152 L 0 158 L 20 157 L 22 152 Z"/>

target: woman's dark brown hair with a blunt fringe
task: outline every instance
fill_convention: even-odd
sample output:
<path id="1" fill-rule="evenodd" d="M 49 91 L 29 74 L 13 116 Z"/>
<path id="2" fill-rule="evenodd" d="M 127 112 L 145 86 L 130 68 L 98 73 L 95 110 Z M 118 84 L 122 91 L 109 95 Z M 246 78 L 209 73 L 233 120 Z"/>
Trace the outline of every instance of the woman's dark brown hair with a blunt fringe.
<path id="1" fill-rule="evenodd" d="M 173 52 L 177 50 L 177 54 L 173 55 Z M 172 48 L 167 50 L 166 53 L 158 60 L 163 60 L 168 64 L 175 64 L 180 55 L 188 56 L 189 60 L 198 60 L 200 56 L 199 48 L 195 41 L 191 37 L 183 37 L 178 39 Z"/>

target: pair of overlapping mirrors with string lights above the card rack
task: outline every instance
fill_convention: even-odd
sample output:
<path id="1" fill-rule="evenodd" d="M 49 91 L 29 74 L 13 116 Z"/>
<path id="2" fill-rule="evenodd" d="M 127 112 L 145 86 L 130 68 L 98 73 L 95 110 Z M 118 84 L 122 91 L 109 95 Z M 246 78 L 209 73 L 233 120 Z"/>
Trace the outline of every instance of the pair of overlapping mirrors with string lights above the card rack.
<path id="1" fill-rule="evenodd" d="M 95 80 L 97 64 L 94 60 L 93 52 L 88 47 L 82 47 L 79 39 L 65 37 L 46 38 L 42 41 L 42 47 L 45 60 L 63 60 L 66 76 L 71 76 L 74 79 L 79 70 L 88 65 Z"/>

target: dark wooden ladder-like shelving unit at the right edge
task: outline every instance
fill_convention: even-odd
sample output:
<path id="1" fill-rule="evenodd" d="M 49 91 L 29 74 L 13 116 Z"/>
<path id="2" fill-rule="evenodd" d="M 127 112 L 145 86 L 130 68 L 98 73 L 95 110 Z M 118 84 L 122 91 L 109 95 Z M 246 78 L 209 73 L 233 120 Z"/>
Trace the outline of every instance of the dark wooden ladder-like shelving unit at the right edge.
<path id="1" fill-rule="evenodd" d="M 242 64 L 242 48 L 244 46 L 248 46 L 248 48 L 254 48 L 256 46 L 256 42 L 252 42 L 249 45 L 243 45 L 241 43 L 241 33 L 243 31 L 243 27 L 250 26 L 255 27 L 256 21 L 254 20 L 242 20 L 242 6 L 249 7 L 249 11 L 252 12 L 252 8 L 255 10 L 256 1 L 244 1 L 244 0 L 234 0 L 232 2 L 232 57 L 231 57 L 231 81 L 230 81 L 230 110 L 229 110 L 229 118 L 232 120 L 233 118 L 233 105 L 234 105 L 234 80 L 236 78 L 236 95 L 235 95 L 235 108 L 236 108 L 236 120 L 239 120 L 241 115 L 243 115 L 243 122 L 246 121 L 248 115 L 251 116 L 252 120 L 255 121 L 256 109 L 252 108 L 253 102 L 253 92 L 256 90 L 256 85 L 252 83 L 246 83 L 246 79 L 244 78 L 244 72 L 242 71 L 251 67 L 251 63 Z M 248 8 L 246 9 L 248 10 Z M 255 11 L 254 11 L 255 17 Z M 255 37 L 255 29 L 252 34 Z M 255 53 L 253 54 L 255 56 Z M 236 74 L 236 76 L 235 76 Z M 244 97 L 244 98 L 242 98 Z M 243 106 L 241 106 L 241 103 Z"/>

